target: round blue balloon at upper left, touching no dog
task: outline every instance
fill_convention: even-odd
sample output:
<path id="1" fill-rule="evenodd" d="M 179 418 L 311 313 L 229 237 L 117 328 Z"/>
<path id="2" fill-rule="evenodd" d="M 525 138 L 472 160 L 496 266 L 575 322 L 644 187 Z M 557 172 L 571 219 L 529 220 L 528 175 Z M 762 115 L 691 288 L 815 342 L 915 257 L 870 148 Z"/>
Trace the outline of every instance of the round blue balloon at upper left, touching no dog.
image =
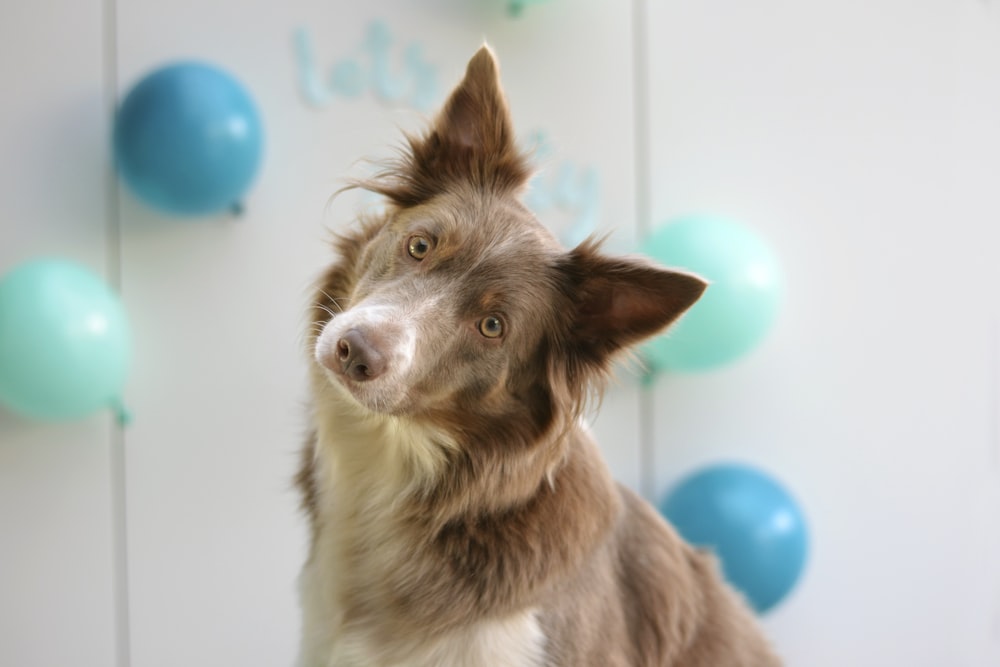
<path id="1" fill-rule="evenodd" d="M 144 202 L 175 215 L 239 210 L 263 152 L 249 93 L 211 65 L 156 70 L 126 95 L 115 118 L 118 169 Z"/>

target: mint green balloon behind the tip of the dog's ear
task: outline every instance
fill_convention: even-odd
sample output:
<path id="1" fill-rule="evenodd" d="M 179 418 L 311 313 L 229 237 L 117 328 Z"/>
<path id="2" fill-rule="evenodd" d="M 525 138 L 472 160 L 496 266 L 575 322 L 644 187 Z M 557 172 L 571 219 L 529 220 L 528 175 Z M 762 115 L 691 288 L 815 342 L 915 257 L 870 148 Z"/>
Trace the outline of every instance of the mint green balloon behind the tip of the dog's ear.
<path id="1" fill-rule="evenodd" d="M 770 331 L 783 298 L 782 272 L 777 256 L 753 230 L 723 218 L 691 216 L 657 229 L 641 251 L 710 283 L 676 325 L 643 348 L 654 371 L 727 364 Z"/>

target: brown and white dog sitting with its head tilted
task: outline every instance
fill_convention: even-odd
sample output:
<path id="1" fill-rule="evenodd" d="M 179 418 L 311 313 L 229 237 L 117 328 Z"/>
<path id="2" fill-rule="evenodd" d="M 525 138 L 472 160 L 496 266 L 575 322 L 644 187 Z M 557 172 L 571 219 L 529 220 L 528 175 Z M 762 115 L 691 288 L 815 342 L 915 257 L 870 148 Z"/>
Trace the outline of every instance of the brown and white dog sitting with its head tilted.
<path id="1" fill-rule="evenodd" d="M 339 237 L 312 308 L 301 666 L 780 664 L 578 425 L 705 284 L 560 247 L 518 199 L 486 47 L 408 144 L 357 184 L 389 208 Z"/>

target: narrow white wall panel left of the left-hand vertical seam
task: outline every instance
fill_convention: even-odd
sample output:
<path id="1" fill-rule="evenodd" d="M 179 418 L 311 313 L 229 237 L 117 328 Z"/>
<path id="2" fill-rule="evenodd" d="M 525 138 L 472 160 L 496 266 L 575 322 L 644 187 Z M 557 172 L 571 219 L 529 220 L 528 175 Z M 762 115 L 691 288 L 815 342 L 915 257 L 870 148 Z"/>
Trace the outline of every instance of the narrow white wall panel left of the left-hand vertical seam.
<path id="1" fill-rule="evenodd" d="M 0 271 L 60 255 L 110 276 L 101 4 L 52 4 L 0 10 Z M 107 415 L 0 412 L 0 665 L 114 664 L 113 442 Z"/>

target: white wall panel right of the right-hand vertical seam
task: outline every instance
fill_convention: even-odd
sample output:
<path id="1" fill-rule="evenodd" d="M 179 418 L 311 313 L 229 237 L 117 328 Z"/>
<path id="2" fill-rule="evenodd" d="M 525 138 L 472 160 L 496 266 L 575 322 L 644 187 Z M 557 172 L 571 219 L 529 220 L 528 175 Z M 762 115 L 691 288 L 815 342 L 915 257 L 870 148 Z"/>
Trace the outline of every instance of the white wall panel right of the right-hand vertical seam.
<path id="1" fill-rule="evenodd" d="M 657 387 L 659 479 L 746 459 L 801 498 L 812 562 L 768 619 L 796 664 L 1000 664 L 1000 7 L 648 25 L 654 214 L 741 218 L 788 276 L 763 349 Z"/>

